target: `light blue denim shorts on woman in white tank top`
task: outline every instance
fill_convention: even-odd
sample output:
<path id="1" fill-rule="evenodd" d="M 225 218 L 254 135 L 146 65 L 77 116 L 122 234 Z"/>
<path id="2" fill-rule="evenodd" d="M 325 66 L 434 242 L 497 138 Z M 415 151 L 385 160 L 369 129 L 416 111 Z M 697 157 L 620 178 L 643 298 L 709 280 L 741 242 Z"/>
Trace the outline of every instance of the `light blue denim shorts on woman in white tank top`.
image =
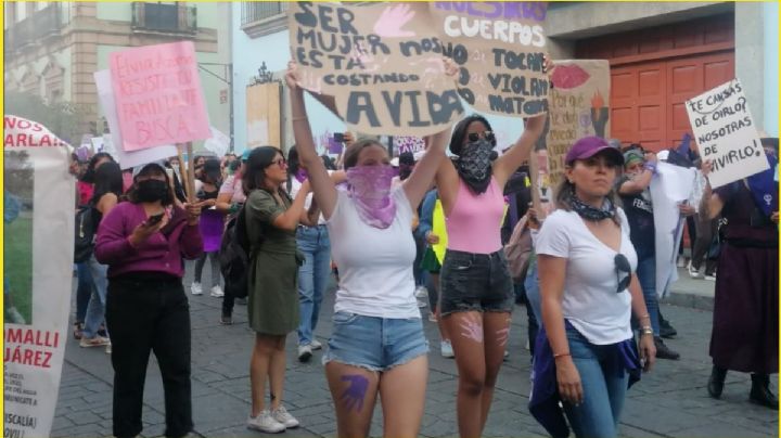
<path id="1" fill-rule="evenodd" d="M 427 353 L 428 342 L 420 318 L 385 319 L 336 312 L 322 362 L 383 372 Z"/>

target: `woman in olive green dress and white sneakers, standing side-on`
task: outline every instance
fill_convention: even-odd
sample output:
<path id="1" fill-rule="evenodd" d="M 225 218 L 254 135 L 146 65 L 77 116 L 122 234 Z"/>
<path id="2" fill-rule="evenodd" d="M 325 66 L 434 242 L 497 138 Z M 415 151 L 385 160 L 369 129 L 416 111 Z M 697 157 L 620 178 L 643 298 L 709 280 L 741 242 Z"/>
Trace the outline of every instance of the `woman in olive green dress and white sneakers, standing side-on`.
<path id="1" fill-rule="evenodd" d="M 255 332 L 249 362 L 252 412 L 247 427 L 279 433 L 298 427 L 298 420 L 282 404 L 285 374 L 285 338 L 298 327 L 298 267 L 304 257 L 295 232 L 303 216 L 309 182 L 302 183 L 295 199 L 283 184 L 287 162 L 273 146 L 255 147 L 243 175 L 246 233 L 249 242 L 249 299 L 247 314 Z M 241 216 L 240 216 L 241 217 Z M 266 407 L 269 382 L 270 409 Z"/>

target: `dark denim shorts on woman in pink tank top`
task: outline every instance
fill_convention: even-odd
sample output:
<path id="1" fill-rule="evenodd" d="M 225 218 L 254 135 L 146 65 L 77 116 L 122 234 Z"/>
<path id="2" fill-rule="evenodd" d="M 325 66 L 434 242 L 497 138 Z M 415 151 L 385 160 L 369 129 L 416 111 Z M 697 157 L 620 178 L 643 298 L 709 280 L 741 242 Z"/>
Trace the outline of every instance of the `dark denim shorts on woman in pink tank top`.
<path id="1" fill-rule="evenodd" d="M 512 312 L 512 278 L 504 250 L 472 254 L 448 249 L 439 273 L 441 314 L 453 312 Z"/>

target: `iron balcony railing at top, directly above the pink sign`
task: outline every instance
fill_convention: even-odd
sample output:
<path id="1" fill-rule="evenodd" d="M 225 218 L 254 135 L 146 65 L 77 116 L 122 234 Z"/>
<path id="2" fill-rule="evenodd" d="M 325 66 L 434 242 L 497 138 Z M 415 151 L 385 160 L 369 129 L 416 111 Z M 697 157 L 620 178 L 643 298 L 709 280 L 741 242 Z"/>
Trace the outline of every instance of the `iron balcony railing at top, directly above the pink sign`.
<path id="1" fill-rule="evenodd" d="M 132 2 L 133 31 L 166 34 L 195 34 L 197 31 L 197 9 L 181 4 Z"/>

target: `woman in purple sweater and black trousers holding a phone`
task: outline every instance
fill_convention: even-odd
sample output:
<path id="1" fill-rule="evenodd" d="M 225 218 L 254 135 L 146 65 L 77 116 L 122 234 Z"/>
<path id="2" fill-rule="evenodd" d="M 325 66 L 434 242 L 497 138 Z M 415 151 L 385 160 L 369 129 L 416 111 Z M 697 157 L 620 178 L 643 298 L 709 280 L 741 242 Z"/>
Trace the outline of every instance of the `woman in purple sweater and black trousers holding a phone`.
<path id="1" fill-rule="evenodd" d="M 127 194 L 101 221 L 95 258 L 108 265 L 106 323 L 114 368 L 113 434 L 141 434 L 150 352 L 163 377 L 167 437 L 193 428 L 190 307 L 184 259 L 203 250 L 196 205 L 179 207 L 163 166 L 141 166 Z"/>

